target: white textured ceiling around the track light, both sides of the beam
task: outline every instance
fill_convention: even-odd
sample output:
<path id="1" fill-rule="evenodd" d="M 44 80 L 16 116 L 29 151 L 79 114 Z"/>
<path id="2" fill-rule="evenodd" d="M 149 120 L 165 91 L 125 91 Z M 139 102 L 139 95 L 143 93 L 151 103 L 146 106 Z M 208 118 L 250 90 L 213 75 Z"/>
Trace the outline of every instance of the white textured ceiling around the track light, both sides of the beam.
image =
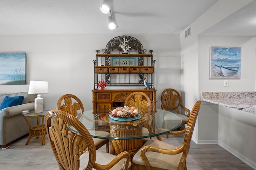
<path id="1" fill-rule="evenodd" d="M 0 0 L 0 35 L 181 33 L 216 1 L 114 0 L 112 11 L 118 27 L 110 30 L 108 14 L 100 12 L 102 0 Z M 256 15 L 255 7 L 256 0 L 203 34 L 230 33 L 232 26 L 233 32 L 246 34 L 253 28 L 256 35 L 255 24 L 252 27 L 244 21 L 248 15 Z"/>

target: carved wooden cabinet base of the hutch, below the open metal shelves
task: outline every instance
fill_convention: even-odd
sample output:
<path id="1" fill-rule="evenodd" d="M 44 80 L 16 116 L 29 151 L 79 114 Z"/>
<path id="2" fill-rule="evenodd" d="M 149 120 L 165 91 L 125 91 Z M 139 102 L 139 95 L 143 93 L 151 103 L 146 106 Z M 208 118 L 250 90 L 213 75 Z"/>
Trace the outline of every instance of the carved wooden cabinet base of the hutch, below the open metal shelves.
<path id="1" fill-rule="evenodd" d="M 127 96 L 132 92 L 144 92 L 152 102 L 153 111 L 156 110 L 156 90 L 92 90 L 93 109 L 106 109 L 123 107 Z"/>

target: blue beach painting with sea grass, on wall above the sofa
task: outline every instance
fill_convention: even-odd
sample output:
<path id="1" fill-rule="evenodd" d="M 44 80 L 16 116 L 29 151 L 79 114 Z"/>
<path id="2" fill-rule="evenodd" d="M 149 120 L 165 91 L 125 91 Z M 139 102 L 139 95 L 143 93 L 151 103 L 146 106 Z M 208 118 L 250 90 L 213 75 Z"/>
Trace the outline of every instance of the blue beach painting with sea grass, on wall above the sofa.
<path id="1" fill-rule="evenodd" d="M 0 85 L 26 84 L 26 53 L 0 53 Z"/>

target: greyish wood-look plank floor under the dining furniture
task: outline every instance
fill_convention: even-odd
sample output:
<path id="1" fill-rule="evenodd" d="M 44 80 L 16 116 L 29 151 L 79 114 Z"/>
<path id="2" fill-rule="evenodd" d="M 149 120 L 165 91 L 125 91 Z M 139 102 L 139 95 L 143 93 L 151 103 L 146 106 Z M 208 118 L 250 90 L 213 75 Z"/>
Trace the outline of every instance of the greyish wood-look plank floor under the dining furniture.
<path id="1" fill-rule="evenodd" d="M 183 137 L 183 135 L 169 135 L 169 139 L 162 136 L 162 140 L 179 147 Z M 40 139 L 34 137 L 26 146 L 27 139 L 28 135 L 12 142 L 9 149 L 0 149 L 0 170 L 58 170 L 48 137 L 44 146 L 41 145 Z M 105 151 L 105 147 L 100 150 Z M 187 157 L 187 168 L 188 170 L 253 170 L 219 145 L 196 145 L 193 141 Z"/>

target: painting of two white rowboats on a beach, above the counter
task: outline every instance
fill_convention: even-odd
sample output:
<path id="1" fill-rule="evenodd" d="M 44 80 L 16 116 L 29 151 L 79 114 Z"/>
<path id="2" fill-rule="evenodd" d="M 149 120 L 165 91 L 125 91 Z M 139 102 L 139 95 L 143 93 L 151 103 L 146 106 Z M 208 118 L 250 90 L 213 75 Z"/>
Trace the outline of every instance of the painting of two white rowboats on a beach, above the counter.
<path id="1" fill-rule="evenodd" d="M 241 78 L 241 47 L 210 47 L 210 78 Z"/>

